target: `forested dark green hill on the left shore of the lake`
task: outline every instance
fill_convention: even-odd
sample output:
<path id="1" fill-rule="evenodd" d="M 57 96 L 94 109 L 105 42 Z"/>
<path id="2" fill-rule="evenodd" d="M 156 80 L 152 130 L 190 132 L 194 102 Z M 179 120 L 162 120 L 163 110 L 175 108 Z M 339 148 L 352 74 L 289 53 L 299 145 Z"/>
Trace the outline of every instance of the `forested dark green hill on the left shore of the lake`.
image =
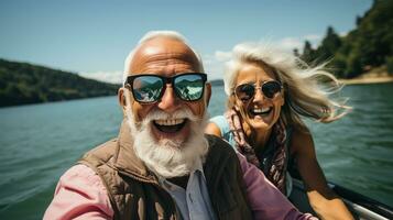
<path id="1" fill-rule="evenodd" d="M 116 95 L 118 85 L 0 59 L 0 107 Z"/>

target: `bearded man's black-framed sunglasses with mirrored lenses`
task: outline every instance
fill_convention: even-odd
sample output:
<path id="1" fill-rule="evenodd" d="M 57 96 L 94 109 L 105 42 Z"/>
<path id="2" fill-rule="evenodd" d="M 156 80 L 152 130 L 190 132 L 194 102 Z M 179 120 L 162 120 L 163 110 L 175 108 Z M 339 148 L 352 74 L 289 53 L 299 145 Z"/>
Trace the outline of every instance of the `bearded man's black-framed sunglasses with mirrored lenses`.
<path id="1" fill-rule="evenodd" d="M 140 103 L 159 101 L 171 84 L 176 96 L 184 101 L 199 100 L 205 90 L 206 74 L 186 73 L 173 77 L 142 74 L 127 77 L 124 86 L 132 91 L 133 98 Z"/>

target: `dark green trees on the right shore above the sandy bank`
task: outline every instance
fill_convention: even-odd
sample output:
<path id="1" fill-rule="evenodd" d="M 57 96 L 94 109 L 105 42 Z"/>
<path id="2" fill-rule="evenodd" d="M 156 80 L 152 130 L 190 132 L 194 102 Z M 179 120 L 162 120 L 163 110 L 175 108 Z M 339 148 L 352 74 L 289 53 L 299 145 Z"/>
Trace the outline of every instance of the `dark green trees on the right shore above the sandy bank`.
<path id="1" fill-rule="evenodd" d="M 363 16 L 357 16 L 357 28 L 340 37 L 329 26 L 318 48 L 305 42 L 302 57 L 306 62 L 330 61 L 328 67 L 340 78 L 352 78 L 365 70 L 389 65 L 393 56 L 393 1 L 375 0 Z"/>

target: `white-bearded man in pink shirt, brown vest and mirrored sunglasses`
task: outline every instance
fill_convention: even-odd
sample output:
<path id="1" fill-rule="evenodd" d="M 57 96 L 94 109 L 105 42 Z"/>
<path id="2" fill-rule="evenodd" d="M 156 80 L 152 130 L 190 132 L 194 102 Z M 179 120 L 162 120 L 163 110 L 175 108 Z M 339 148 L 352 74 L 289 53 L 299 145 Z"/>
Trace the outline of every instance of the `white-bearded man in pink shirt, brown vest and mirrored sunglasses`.
<path id="1" fill-rule="evenodd" d="M 62 176 L 44 219 L 313 218 L 227 142 L 204 135 L 210 85 L 182 35 L 148 33 L 125 73 L 118 139 Z"/>

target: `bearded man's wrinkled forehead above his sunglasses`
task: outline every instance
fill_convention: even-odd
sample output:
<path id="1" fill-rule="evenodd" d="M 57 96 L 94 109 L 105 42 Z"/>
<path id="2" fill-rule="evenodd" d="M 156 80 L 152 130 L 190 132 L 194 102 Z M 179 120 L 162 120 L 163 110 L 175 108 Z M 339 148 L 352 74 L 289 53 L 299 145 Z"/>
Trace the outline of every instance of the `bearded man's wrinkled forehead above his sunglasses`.
<path id="1" fill-rule="evenodd" d="M 157 37 L 144 42 L 134 52 L 128 73 L 160 69 L 171 65 L 175 70 L 201 72 L 196 54 L 185 43 L 170 37 Z"/>

